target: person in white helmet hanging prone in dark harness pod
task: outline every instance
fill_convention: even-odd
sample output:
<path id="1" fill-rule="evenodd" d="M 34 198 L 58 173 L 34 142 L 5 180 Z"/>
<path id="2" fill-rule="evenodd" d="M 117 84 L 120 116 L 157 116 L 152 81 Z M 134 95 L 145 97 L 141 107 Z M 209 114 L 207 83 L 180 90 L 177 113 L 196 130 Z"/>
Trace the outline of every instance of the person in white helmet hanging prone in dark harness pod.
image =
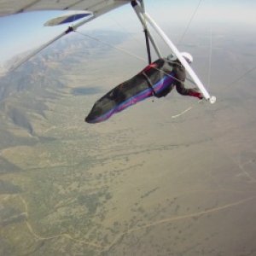
<path id="1" fill-rule="evenodd" d="M 192 63 L 189 53 L 182 53 L 183 58 Z M 185 88 L 186 70 L 175 55 L 160 58 L 149 64 L 131 79 L 117 85 L 94 104 L 85 118 L 88 123 L 98 123 L 144 99 L 166 96 L 173 87 L 183 96 L 203 96 L 196 88 Z"/>

